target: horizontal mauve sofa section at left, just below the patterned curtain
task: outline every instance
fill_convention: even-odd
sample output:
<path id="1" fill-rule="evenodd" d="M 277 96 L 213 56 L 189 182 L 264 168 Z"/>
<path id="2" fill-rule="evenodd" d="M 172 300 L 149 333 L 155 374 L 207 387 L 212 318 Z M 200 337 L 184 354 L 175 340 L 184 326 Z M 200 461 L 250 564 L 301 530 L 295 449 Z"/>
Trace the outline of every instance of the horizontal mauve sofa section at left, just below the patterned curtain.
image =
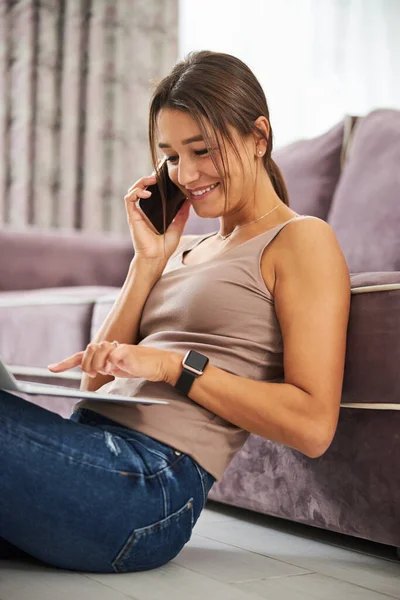
<path id="1" fill-rule="evenodd" d="M 134 255 L 130 238 L 74 230 L 0 229 L 0 290 L 120 287 Z"/>

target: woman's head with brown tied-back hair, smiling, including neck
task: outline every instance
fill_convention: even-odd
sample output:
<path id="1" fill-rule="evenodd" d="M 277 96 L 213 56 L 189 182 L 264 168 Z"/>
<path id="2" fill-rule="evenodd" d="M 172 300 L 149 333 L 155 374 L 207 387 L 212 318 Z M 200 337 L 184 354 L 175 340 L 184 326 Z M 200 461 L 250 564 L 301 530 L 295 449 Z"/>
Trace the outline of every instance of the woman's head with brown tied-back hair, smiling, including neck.
<path id="1" fill-rule="evenodd" d="M 191 53 L 175 66 L 154 92 L 149 142 L 154 165 L 157 147 L 166 151 L 169 177 L 196 213 L 221 219 L 221 237 L 268 207 L 289 205 L 282 174 L 271 158 L 264 92 L 250 69 L 237 59 L 233 64 L 230 55 Z M 219 184 L 218 193 L 207 190 Z M 199 204 L 196 198 L 209 202 Z"/>

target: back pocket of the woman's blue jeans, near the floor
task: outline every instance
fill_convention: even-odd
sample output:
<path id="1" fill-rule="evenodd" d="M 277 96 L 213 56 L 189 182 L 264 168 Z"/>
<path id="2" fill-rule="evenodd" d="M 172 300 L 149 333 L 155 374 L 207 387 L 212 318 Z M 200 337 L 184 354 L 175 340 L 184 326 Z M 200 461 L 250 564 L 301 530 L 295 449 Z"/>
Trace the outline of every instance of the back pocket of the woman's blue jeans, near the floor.
<path id="1" fill-rule="evenodd" d="M 116 573 L 147 571 L 166 564 L 190 540 L 194 525 L 193 498 L 165 519 L 135 529 L 112 562 Z"/>

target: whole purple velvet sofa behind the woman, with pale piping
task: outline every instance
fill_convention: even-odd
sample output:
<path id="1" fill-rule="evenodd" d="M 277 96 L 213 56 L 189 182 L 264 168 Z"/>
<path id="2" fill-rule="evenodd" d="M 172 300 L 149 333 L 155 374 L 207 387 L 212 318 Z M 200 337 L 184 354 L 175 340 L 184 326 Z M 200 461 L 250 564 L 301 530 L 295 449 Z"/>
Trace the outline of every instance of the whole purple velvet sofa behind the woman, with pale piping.
<path id="1" fill-rule="evenodd" d="M 340 420 L 317 459 L 251 435 L 210 499 L 400 547 L 400 111 L 346 117 L 274 158 L 292 208 L 330 223 L 348 261 Z M 191 214 L 185 233 L 217 227 Z M 90 341 L 132 256 L 129 238 L 0 231 L 0 356 L 18 377 L 54 381 L 46 365 Z M 30 400 L 64 416 L 74 403 Z"/>

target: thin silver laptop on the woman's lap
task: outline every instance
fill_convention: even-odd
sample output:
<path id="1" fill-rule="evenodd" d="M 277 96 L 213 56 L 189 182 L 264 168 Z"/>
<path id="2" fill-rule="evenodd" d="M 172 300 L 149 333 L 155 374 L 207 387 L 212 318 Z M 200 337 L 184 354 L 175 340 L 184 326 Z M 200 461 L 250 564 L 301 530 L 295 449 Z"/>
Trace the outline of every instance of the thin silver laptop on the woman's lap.
<path id="1" fill-rule="evenodd" d="M 91 400 L 105 400 L 107 402 L 128 402 L 129 404 L 168 404 L 166 400 L 144 400 L 130 398 L 119 394 L 106 394 L 100 392 L 87 392 L 62 385 L 48 383 L 35 383 L 33 381 L 18 381 L 0 360 L 0 390 L 6 392 L 33 394 L 41 396 L 64 396 L 69 398 L 90 398 Z"/>

